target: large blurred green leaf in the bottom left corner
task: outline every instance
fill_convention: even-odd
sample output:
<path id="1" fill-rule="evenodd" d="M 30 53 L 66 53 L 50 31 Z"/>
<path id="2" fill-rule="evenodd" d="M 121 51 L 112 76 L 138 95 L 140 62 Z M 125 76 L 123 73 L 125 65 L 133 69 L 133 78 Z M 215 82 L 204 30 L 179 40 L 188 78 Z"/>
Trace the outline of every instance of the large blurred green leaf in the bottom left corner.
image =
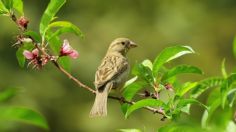
<path id="1" fill-rule="evenodd" d="M 48 129 L 48 124 L 45 118 L 38 112 L 28 108 L 0 107 L 0 120 L 19 121 Z"/>

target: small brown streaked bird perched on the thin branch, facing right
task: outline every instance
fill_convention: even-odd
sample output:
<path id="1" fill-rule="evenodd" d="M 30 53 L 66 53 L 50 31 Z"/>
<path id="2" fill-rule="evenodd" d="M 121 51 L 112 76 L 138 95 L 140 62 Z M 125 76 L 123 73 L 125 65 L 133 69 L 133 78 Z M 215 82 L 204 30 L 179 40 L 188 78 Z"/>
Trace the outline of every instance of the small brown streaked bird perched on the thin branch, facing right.
<path id="1" fill-rule="evenodd" d="M 107 98 L 111 89 L 121 89 L 129 75 L 130 65 L 127 52 L 137 47 L 137 44 L 128 38 L 113 40 L 95 73 L 96 97 L 90 111 L 90 117 L 107 116 Z"/>

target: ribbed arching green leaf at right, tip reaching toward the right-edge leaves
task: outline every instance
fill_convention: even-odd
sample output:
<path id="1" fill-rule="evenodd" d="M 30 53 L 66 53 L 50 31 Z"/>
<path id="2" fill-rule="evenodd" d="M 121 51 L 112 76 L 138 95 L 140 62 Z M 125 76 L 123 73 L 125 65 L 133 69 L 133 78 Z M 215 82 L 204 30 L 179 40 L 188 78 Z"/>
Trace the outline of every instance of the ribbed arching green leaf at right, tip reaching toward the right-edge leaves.
<path id="1" fill-rule="evenodd" d="M 199 82 L 199 84 L 195 88 L 193 88 L 191 92 L 191 97 L 197 98 L 208 88 L 217 87 L 217 86 L 219 87 L 223 84 L 223 82 L 224 82 L 224 79 L 222 77 L 212 77 L 212 78 L 207 78 L 205 80 L 202 80 Z"/>

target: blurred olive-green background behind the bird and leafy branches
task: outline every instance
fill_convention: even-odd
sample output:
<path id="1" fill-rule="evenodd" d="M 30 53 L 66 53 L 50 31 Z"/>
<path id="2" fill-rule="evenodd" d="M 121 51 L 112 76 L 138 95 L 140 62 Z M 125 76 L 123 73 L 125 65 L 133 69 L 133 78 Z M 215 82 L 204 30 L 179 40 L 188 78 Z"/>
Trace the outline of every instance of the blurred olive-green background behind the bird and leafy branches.
<path id="1" fill-rule="evenodd" d="M 24 0 L 29 29 L 38 30 L 40 17 L 49 0 Z M 57 15 L 79 26 L 85 38 L 66 35 L 80 53 L 73 61 L 72 73 L 93 87 L 94 73 L 110 42 L 128 37 L 139 47 L 129 53 L 131 65 L 149 58 L 153 60 L 165 47 L 189 45 L 197 55 L 189 55 L 170 63 L 186 63 L 200 67 L 204 76 L 182 76 L 182 80 L 200 80 L 220 75 L 220 64 L 233 71 L 235 59 L 232 42 L 236 33 L 235 0 L 68 0 Z M 51 64 L 42 70 L 21 69 L 11 48 L 18 33 L 7 17 L 0 17 L 0 87 L 20 86 L 19 94 L 9 103 L 40 111 L 55 132 L 110 132 L 121 128 L 155 131 L 168 121 L 145 110 L 125 120 L 120 104 L 109 100 L 108 117 L 88 117 L 94 96 L 78 88 Z M 192 109 L 200 119 L 198 107 Z M 13 126 L 13 127 L 11 127 Z M 19 123 L 8 123 L 12 131 L 44 131 Z"/>

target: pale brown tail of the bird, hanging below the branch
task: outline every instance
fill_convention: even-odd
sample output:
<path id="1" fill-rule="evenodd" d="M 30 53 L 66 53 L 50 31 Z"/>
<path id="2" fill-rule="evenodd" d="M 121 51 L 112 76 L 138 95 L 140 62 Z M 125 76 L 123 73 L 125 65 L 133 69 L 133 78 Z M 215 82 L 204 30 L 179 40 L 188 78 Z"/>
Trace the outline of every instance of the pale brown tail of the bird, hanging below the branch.
<path id="1" fill-rule="evenodd" d="M 108 96 L 107 90 L 96 92 L 96 98 L 89 115 L 90 117 L 107 116 L 107 96 Z"/>

